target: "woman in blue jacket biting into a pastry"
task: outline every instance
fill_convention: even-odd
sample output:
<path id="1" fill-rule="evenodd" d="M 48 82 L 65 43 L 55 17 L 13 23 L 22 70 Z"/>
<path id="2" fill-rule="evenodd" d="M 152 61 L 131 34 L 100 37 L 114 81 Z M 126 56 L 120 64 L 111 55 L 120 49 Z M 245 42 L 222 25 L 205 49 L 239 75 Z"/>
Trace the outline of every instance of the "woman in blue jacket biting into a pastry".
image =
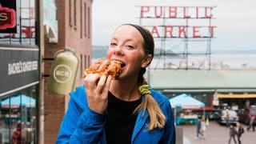
<path id="1" fill-rule="evenodd" d="M 85 86 L 70 93 L 56 143 L 175 143 L 170 102 L 143 78 L 153 56 L 148 30 L 119 26 L 106 57 L 122 62 L 122 73 L 115 80 L 86 76 Z"/>

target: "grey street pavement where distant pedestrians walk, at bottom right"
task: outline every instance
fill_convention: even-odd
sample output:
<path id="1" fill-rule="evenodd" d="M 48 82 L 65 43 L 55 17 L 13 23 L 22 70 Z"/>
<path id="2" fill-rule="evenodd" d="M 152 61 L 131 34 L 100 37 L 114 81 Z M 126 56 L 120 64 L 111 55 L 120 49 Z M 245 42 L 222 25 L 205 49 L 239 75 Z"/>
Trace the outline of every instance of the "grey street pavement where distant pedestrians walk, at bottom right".
<path id="1" fill-rule="evenodd" d="M 247 131 L 245 125 L 242 125 L 245 133 L 242 134 L 242 144 L 255 144 L 256 132 L 252 130 Z M 195 125 L 182 125 L 183 128 L 183 143 L 184 144 L 227 144 L 230 138 L 230 129 L 226 126 L 220 126 L 215 121 L 210 121 L 210 125 L 206 129 L 206 138 L 195 139 L 196 126 Z M 233 144 L 233 140 L 230 144 Z"/>

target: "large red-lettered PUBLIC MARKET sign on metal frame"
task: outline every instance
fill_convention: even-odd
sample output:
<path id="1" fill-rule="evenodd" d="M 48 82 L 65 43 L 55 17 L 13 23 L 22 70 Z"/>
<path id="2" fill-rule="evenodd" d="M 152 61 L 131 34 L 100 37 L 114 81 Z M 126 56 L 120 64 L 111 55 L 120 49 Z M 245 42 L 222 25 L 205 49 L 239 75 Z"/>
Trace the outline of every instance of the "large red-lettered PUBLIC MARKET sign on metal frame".
<path id="1" fill-rule="evenodd" d="M 151 31 L 154 38 L 214 38 L 216 26 L 206 22 L 214 18 L 214 6 L 139 6 L 140 22 L 148 19 L 149 22 L 162 25 L 143 25 Z M 183 19 L 183 22 L 182 22 Z M 205 21 L 206 26 L 190 25 L 194 21 Z M 182 24 L 181 24 L 182 23 Z"/>

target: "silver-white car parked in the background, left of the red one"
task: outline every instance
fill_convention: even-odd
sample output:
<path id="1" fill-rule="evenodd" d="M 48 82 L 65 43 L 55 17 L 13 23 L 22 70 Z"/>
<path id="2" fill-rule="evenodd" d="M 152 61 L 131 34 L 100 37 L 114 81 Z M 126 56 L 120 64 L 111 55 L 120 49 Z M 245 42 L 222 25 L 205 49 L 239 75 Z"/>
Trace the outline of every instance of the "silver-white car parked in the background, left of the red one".
<path id="1" fill-rule="evenodd" d="M 220 110 L 218 113 L 219 124 L 226 124 L 226 122 L 229 122 L 229 124 L 236 124 L 238 119 L 238 113 L 235 110 Z"/>

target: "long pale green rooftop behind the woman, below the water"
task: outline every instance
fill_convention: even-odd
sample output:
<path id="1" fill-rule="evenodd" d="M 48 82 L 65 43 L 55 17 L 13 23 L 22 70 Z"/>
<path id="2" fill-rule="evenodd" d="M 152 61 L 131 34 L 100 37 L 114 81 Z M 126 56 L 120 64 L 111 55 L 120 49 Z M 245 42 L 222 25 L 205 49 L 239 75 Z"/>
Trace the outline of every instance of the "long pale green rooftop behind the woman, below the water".
<path id="1" fill-rule="evenodd" d="M 149 75 L 157 90 L 256 90 L 256 70 L 150 70 Z"/>

